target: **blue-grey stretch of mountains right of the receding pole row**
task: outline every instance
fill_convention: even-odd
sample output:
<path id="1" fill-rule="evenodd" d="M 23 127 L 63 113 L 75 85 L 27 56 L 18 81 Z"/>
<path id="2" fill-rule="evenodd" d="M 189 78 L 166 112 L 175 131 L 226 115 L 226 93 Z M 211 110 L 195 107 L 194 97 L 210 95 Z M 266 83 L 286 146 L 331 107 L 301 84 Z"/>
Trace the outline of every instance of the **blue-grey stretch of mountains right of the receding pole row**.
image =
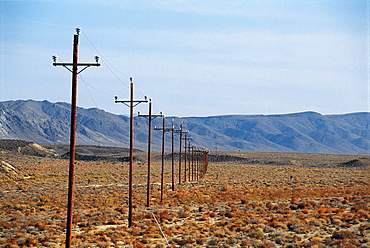
<path id="1" fill-rule="evenodd" d="M 231 115 L 185 118 L 183 122 L 195 140 L 217 143 L 220 150 L 370 152 L 370 113 Z"/>

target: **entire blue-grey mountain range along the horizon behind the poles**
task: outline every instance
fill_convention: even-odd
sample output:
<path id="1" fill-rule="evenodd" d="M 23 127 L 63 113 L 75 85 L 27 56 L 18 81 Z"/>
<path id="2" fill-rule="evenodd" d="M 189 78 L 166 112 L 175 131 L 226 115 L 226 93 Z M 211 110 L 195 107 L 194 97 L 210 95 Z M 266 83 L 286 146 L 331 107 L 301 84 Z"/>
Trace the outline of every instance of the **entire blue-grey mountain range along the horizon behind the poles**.
<path id="1" fill-rule="evenodd" d="M 209 150 L 370 154 L 370 113 L 169 117 Z M 155 119 L 154 125 L 161 126 Z M 77 143 L 128 147 L 129 118 L 91 108 L 77 110 Z M 48 101 L 0 102 L 0 139 L 69 143 L 70 105 Z M 135 148 L 146 150 L 148 121 L 135 118 Z M 166 135 L 167 148 L 170 136 Z M 160 131 L 153 132 L 159 151 Z M 176 148 L 178 147 L 178 136 Z"/>

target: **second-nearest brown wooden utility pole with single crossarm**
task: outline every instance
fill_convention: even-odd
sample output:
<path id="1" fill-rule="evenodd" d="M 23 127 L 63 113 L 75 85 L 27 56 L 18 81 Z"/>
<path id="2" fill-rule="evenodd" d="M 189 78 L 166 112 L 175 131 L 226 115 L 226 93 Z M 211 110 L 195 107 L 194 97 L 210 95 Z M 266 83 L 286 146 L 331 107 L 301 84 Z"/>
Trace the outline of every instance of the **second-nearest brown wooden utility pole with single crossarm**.
<path id="1" fill-rule="evenodd" d="M 130 100 L 119 101 L 118 96 L 115 97 L 115 103 L 123 103 L 130 108 L 130 166 L 129 166 L 129 188 L 128 188 L 128 227 L 132 226 L 132 170 L 134 165 L 134 108 L 142 102 L 148 102 L 147 97 L 145 100 L 134 100 L 134 83 L 133 78 L 130 77 Z M 127 104 L 129 103 L 129 104 Z"/>

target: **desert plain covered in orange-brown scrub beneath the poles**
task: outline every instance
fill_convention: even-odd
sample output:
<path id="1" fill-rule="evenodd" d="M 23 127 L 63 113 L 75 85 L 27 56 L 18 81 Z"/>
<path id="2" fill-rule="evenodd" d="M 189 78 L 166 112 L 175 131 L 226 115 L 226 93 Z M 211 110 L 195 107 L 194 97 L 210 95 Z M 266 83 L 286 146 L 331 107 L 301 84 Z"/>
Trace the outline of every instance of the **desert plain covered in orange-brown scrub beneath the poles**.
<path id="1" fill-rule="evenodd" d="M 175 191 L 166 160 L 160 202 L 155 153 L 150 207 L 145 156 L 131 228 L 128 163 L 76 162 L 73 247 L 370 247 L 370 156 L 211 152 L 199 181 L 176 171 Z M 1 149 L 0 163 L 0 247 L 63 247 L 68 160 Z"/>

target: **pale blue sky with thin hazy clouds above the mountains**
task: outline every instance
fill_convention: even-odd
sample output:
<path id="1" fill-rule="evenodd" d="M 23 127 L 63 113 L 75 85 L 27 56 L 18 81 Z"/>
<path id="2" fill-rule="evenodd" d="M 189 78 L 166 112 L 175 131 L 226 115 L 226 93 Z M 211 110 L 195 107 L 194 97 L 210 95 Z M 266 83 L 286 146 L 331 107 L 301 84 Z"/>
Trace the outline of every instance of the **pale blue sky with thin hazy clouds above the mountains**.
<path id="1" fill-rule="evenodd" d="M 70 102 L 80 27 L 81 107 L 127 114 L 134 77 L 167 116 L 369 111 L 369 2 L 0 0 L 0 101 Z"/>

